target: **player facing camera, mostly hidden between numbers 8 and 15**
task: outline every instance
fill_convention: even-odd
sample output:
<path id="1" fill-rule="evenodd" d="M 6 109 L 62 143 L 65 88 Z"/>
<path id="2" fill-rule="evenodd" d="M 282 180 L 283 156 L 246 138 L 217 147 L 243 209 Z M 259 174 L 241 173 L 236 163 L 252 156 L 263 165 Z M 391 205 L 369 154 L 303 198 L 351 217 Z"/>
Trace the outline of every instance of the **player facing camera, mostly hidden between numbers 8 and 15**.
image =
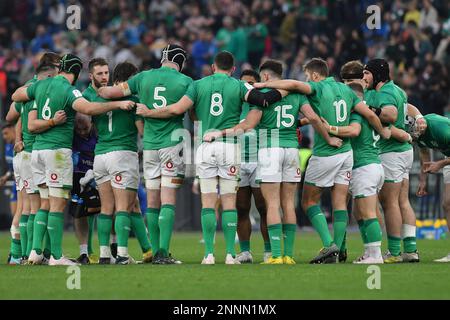
<path id="1" fill-rule="evenodd" d="M 244 70 L 241 80 L 253 84 L 260 81 L 259 74 L 254 70 Z M 244 121 L 250 106 L 247 102 L 242 105 L 241 121 Z M 252 263 L 253 257 L 250 251 L 250 235 L 252 224 L 250 221 L 250 208 L 252 195 L 255 199 L 255 206 L 260 215 L 260 230 L 264 240 L 264 262 L 271 257 L 269 233 L 267 232 L 267 215 L 264 197 L 261 193 L 260 184 L 256 182 L 256 166 L 258 163 L 258 135 L 255 130 L 245 133 L 241 137 L 241 171 L 239 189 L 236 195 L 236 209 L 238 212 L 237 233 L 239 236 L 239 246 L 241 252 L 237 259 L 241 263 Z"/>

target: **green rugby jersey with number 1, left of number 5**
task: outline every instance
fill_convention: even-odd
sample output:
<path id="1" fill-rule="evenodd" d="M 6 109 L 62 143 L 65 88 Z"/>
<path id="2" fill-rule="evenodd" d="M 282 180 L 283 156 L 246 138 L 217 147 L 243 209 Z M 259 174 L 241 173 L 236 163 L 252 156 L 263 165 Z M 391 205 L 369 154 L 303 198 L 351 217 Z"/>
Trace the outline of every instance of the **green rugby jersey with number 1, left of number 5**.
<path id="1" fill-rule="evenodd" d="M 83 97 L 90 102 L 108 102 L 95 91 L 92 85 L 84 90 Z M 121 100 L 132 100 L 139 102 L 137 97 L 124 97 Z M 112 110 L 107 113 L 92 116 L 97 129 L 98 141 L 95 145 L 95 155 L 105 154 L 112 151 L 134 151 L 137 152 L 137 128 L 136 110 Z"/>

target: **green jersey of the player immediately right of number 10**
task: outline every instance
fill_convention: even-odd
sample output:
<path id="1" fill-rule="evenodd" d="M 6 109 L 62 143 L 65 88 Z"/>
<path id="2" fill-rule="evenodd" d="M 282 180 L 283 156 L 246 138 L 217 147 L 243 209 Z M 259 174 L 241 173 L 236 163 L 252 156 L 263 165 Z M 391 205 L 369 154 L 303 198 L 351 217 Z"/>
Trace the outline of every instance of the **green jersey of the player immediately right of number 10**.
<path id="1" fill-rule="evenodd" d="M 380 135 L 363 116 L 353 112 L 350 116 L 350 123 L 355 122 L 361 125 L 361 132 L 357 137 L 351 139 L 353 169 L 372 163 L 381 163 L 380 157 L 378 156 Z"/>

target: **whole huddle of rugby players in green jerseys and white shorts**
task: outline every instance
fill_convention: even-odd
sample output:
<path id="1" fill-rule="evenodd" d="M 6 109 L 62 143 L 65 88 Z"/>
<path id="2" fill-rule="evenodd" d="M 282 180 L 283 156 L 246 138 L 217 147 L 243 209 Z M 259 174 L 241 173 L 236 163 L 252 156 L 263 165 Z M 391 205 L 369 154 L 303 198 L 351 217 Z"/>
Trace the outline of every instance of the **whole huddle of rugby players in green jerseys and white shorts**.
<path id="1" fill-rule="evenodd" d="M 297 128 L 305 124 L 314 127 L 315 136 L 301 205 L 323 243 L 311 263 L 347 259 L 350 198 L 365 248 L 354 263 L 419 261 L 415 214 L 408 199 L 411 143 L 415 139 L 422 147 L 450 156 L 450 120 L 423 117 L 408 104 L 405 92 L 390 80 L 385 60 L 374 59 L 365 66 L 347 63 L 341 72 L 345 83 L 330 77 L 326 62 L 317 58 L 304 66 L 307 82 L 282 80 L 282 64 L 275 60 L 264 62 L 259 73 L 244 71 L 237 80 L 231 77 L 234 58 L 225 51 L 216 55 L 211 76 L 193 81 L 181 73 L 185 60 L 183 48 L 168 45 L 160 68 L 138 73 L 130 63 L 119 64 L 113 72 L 114 85 L 108 86 L 108 62 L 96 58 L 89 63 L 91 84 L 81 93 L 74 84 L 82 61 L 72 54 L 61 59 L 44 55 L 36 76 L 14 92 L 8 114 L 8 121 L 20 118 L 14 173 L 24 199 L 20 223 L 15 219 L 11 228 L 12 263 L 77 263 L 62 253 L 63 211 L 72 188 L 89 184 L 91 172 L 101 206 L 98 262 L 133 263 L 128 254 L 132 230 L 144 262 L 180 263 L 170 254 L 170 240 L 176 191 L 185 174 L 186 141 L 174 132 L 183 128 L 186 111 L 201 124 L 195 164 L 205 244 L 202 264 L 215 264 L 218 201 L 225 263 L 253 262 L 252 195 L 261 215 L 263 263 L 295 264 L 295 194 L 301 180 Z M 299 113 L 304 115 L 301 120 Z M 90 125 L 81 114 L 91 117 L 97 142 L 92 171 L 84 170 L 88 173 L 80 180 L 73 174 L 74 128 L 78 123 Z M 140 132 L 147 226 L 137 201 Z M 450 164 L 450 160 L 426 162 L 429 159 L 422 154 L 423 174 Z M 445 179 L 450 183 L 448 170 Z M 331 188 L 333 236 L 320 207 L 324 188 Z M 378 201 L 388 235 L 384 255 Z M 112 234 L 117 252 L 111 250 Z M 92 248 L 87 250 L 84 244 L 80 254 L 83 259 L 78 262 L 94 260 L 86 259 Z"/>

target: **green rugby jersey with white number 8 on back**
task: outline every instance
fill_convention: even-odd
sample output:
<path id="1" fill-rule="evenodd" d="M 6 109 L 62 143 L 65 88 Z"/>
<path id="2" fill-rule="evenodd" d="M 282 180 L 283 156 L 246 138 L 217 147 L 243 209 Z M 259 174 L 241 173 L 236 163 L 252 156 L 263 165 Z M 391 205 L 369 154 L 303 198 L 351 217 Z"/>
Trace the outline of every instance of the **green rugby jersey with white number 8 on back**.
<path id="1" fill-rule="evenodd" d="M 195 113 L 201 121 L 200 137 L 207 131 L 232 128 L 239 123 L 242 103 L 251 86 L 224 73 L 194 81 L 186 96 L 192 100 Z M 228 142 L 234 142 L 234 137 Z"/>

